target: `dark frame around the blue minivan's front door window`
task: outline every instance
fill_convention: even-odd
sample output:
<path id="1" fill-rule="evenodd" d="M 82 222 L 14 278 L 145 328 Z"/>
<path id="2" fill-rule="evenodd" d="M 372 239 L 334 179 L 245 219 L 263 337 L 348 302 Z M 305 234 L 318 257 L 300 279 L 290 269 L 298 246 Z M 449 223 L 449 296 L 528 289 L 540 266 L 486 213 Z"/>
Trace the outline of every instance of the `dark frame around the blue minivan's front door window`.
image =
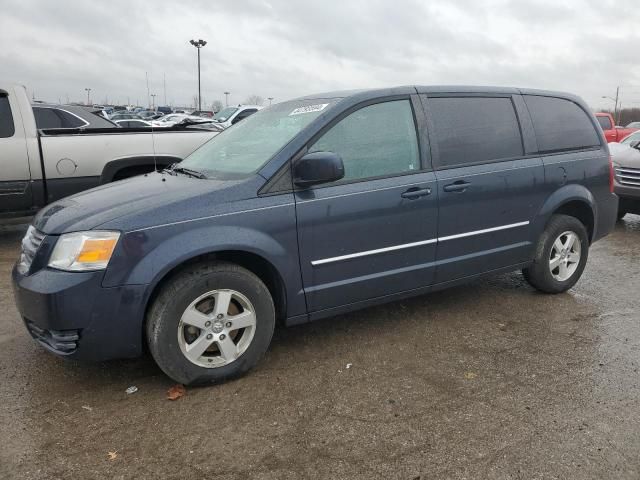
<path id="1" fill-rule="evenodd" d="M 347 108 L 345 111 L 343 111 L 339 115 L 337 115 L 335 118 L 333 118 L 329 123 L 324 125 L 313 137 L 311 137 L 311 139 L 306 143 L 306 145 L 302 149 L 300 149 L 291 158 L 291 160 L 289 160 L 288 164 L 290 165 L 290 168 L 292 168 L 293 167 L 293 163 L 297 159 L 302 157 L 302 155 L 304 155 L 304 153 L 306 153 L 309 150 L 309 148 L 311 146 L 313 146 L 325 133 L 327 133 L 329 130 L 331 130 L 331 128 L 333 128 L 336 124 L 338 124 L 340 121 L 342 121 L 343 119 L 345 119 L 346 117 L 348 117 L 352 113 L 357 112 L 358 110 L 361 110 L 361 109 L 363 109 L 365 107 L 369 107 L 371 105 L 378 105 L 378 104 L 387 103 L 387 102 L 395 102 L 395 101 L 398 101 L 398 100 L 409 100 L 409 103 L 410 103 L 410 106 L 411 106 L 411 111 L 412 111 L 412 115 L 413 115 L 413 124 L 414 124 L 414 128 L 416 129 L 416 139 L 417 139 L 417 144 L 418 144 L 418 160 L 419 160 L 419 164 L 420 164 L 420 169 L 419 170 L 399 172 L 399 173 L 389 174 L 389 175 L 379 175 L 379 176 L 376 176 L 376 177 L 356 178 L 356 179 L 351 179 L 351 180 L 334 182 L 334 183 L 330 183 L 330 184 L 327 184 L 327 185 L 316 185 L 316 186 L 313 186 L 313 187 L 310 187 L 310 188 L 305 188 L 305 189 L 300 189 L 300 188 L 298 188 L 298 187 L 296 187 L 294 185 L 294 191 L 316 190 L 316 189 L 320 189 L 320 188 L 334 187 L 334 186 L 337 186 L 337 185 L 349 185 L 349 184 L 352 184 L 352 183 L 369 182 L 369 181 L 373 181 L 373 180 L 380 180 L 380 179 L 383 179 L 383 178 L 402 177 L 402 176 L 407 176 L 407 175 L 415 175 L 415 174 L 418 174 L 418 173 L 426 173 L 426 172 L 433 171 L 432 160 L 431 160 L 431 152 L 429 150 L 429 144 L 427 143 L 425 145 L 425 141 L 428 142 L 428 137 L 427 137 L 427 132 L 426 132 L 426 130 L 427 130 L 427 128 L 426 128 L 426 118 L 424 116 L 424 110 L 423 110 L 421 102 L 419 100 L 419 96 L 416 95 L 416 94 L 412 94 L 412 95 L 391 95 L 391 96 L 388 96 L 388 97 L 379 97 L 379 98 L 366 100 L 366 101 L 357 103 L 355 105 L 352 105 L 351 107 Z M 422 130 L 422 132 L 421 132 L 421 130 Z"/>

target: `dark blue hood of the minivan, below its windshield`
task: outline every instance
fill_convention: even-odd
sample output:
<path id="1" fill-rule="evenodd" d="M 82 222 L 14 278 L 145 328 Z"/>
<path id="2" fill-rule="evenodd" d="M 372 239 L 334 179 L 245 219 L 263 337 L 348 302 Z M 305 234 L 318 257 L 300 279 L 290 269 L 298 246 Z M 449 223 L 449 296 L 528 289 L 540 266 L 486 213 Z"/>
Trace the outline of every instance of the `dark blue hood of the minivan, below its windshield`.
<path id="1" fill-rule="evenodd" d="M 252 189 L 237 188 L 243 183 L 247 183 L 247 180 L 224 181 L 150 173 L 103 185 L 52 203 L 40 210 L 33 225 L 43 233 L 60 234 L 92 230 L 106 223 L 113 228 L 118 219 L 146 213 L 150 216 L 148 220 L 153 221 L 158 211 L 166 211 L 172 205 L 188 202 L 196 197 L 207 196 L 206 203 L 210 208 L 218 203 L 247 198 Z M 255 193 L 256 189 L 253 189 L 252 196 Z M 185 217 L 189 215 L 188 209 L 179 211 Z M 157 218 L 158 223 L 163 220 Z"/>

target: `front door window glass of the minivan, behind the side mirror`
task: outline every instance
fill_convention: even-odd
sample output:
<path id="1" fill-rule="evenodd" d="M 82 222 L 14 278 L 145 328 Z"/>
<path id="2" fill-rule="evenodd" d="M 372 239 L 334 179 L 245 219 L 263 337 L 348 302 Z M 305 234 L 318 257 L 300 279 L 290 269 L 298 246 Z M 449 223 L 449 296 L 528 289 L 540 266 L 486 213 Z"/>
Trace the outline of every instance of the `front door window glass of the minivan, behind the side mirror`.
<path id="1" fill-rule="evenodd" d="M 310 149 L 342 157 L 345 180 L 397 175 L 420 169 L 409 100 L 363 107 L 340 120 Z"/>

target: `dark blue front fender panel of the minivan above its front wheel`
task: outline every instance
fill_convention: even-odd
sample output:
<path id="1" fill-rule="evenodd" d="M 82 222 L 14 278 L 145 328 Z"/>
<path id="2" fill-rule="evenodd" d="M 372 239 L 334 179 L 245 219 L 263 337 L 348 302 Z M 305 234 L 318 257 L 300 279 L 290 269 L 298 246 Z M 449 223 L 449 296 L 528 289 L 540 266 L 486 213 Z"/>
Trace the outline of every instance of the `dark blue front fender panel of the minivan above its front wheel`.
<path id="1" fill-rule="evenodd" d="M 124 233 L 103 286 L 144 284 L 151 295 L 174 268 L 201 255 L 231 251 L 257 255 L 271 264 L 284 281 L 289 314 L 306 312 L 293 204 Z"/>

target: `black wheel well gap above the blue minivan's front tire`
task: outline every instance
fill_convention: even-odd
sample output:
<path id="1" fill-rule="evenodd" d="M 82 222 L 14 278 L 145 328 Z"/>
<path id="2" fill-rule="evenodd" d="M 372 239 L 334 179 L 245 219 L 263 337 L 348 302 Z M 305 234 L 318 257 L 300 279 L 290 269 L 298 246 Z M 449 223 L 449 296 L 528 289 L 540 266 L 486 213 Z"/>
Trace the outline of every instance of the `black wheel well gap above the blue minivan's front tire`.
<path id="1" fill-rule="evenodd" d="M 260 255 L 254 253 L 240 251 L 240 250 L 226 250 L 222 252 L 207 253 L 191 258 L 180 265 L 175 266 L 169 272 L 167 272 L 162 279 L 156 284 L 147 301 L 146 311 L 149 310 L 153 304 L 156 296 L 162 289 L 162 286 L 171 280 L 172 277 L 178 275 L 182 270 L 188 268 L 194 264 L 203 262 L 215 262 L 216 260 L 223 260 L 240 265 L 246 268 L 253 274 L 255 274 L 269 289 L 273 303 L 276 309 L 276 320 L 284 322 L 287 315 L 287 298 L 284 289 L 284 281 L 278 273 L 278 270 L 268 261 Z"/>

